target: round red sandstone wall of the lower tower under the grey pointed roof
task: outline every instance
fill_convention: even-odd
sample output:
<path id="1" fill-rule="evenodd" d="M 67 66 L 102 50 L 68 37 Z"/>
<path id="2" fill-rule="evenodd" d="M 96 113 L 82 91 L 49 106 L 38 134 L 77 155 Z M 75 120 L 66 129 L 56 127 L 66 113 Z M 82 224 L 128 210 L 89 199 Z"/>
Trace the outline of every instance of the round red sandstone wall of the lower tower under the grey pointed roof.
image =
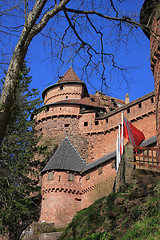
<path id="1" fill-rule="evenodd" d="M 54 172 L 53 180 L 42 178 L 42 205 L 40 221 L 54 222 L 55 227 L 65 227 L 81 209 L 80 176 L 68 181 L 65 172 Z M 60 181 L 59 181 L 60 176 Z"/>

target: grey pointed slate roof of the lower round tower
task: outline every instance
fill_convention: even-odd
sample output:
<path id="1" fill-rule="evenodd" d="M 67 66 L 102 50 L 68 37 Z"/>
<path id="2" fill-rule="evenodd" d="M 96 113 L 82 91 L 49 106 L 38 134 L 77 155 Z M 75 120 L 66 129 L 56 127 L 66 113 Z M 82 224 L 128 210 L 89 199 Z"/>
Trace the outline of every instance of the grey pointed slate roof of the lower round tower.
<path id="1" fill-rule="evenodd" d="M 42 170 L 42 173 L 50 170 L 81 172 L 85 166 L 85 162 L 74 148 L 69 138 L 66 137 Z"/>

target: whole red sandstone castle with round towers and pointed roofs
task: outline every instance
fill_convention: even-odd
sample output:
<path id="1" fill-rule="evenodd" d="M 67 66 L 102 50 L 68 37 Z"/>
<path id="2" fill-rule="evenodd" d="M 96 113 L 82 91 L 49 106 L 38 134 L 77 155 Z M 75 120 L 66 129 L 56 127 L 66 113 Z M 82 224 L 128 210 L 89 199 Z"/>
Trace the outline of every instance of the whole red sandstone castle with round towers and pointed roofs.
<path id="1" fill-rule="evenodd" d="M 77 211 L 108 195 L 116 176 L 116 138 L 121 112 L 156 143 L 155 96 L 151 92 L 129 102 L 88 93 L 74 70 L 46 88 L 44 106 L 35 116 L 43 144 L 57 148 L 42 171 L 40 221 L 65 227 Z"/>

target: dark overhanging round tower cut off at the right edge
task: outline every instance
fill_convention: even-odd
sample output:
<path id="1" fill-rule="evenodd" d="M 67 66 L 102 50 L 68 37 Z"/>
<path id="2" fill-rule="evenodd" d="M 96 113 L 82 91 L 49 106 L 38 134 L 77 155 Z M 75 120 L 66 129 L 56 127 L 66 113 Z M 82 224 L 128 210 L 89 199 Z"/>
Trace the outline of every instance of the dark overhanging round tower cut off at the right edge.
<path id="1" fill-rule="evenodd" d="M 145 0 L 140 23 L 150 40 L 151 70 L 155 83 L 157 146 L 160 147 L 160 0 Z"/>

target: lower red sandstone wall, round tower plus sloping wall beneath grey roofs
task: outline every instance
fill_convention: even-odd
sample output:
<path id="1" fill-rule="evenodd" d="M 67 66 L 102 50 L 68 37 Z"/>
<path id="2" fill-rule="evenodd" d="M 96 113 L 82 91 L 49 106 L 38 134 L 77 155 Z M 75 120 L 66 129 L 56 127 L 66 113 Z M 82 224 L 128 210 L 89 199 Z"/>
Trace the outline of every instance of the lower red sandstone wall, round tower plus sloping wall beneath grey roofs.
<path id="1" fill-rule="evenodd" d="M 115 168 L 113 162 L 92 170 L 90 178 L 74 175 L 74 182 L 68 181 L 68 173 L 53 171 L 53 180 L 48 181 L 48 173 L 42 178 L 42 204 L 40 221 L 54 222 L 55 227 L 65 227 L 76 214 L 108 195 L 113 188 Z"/>

